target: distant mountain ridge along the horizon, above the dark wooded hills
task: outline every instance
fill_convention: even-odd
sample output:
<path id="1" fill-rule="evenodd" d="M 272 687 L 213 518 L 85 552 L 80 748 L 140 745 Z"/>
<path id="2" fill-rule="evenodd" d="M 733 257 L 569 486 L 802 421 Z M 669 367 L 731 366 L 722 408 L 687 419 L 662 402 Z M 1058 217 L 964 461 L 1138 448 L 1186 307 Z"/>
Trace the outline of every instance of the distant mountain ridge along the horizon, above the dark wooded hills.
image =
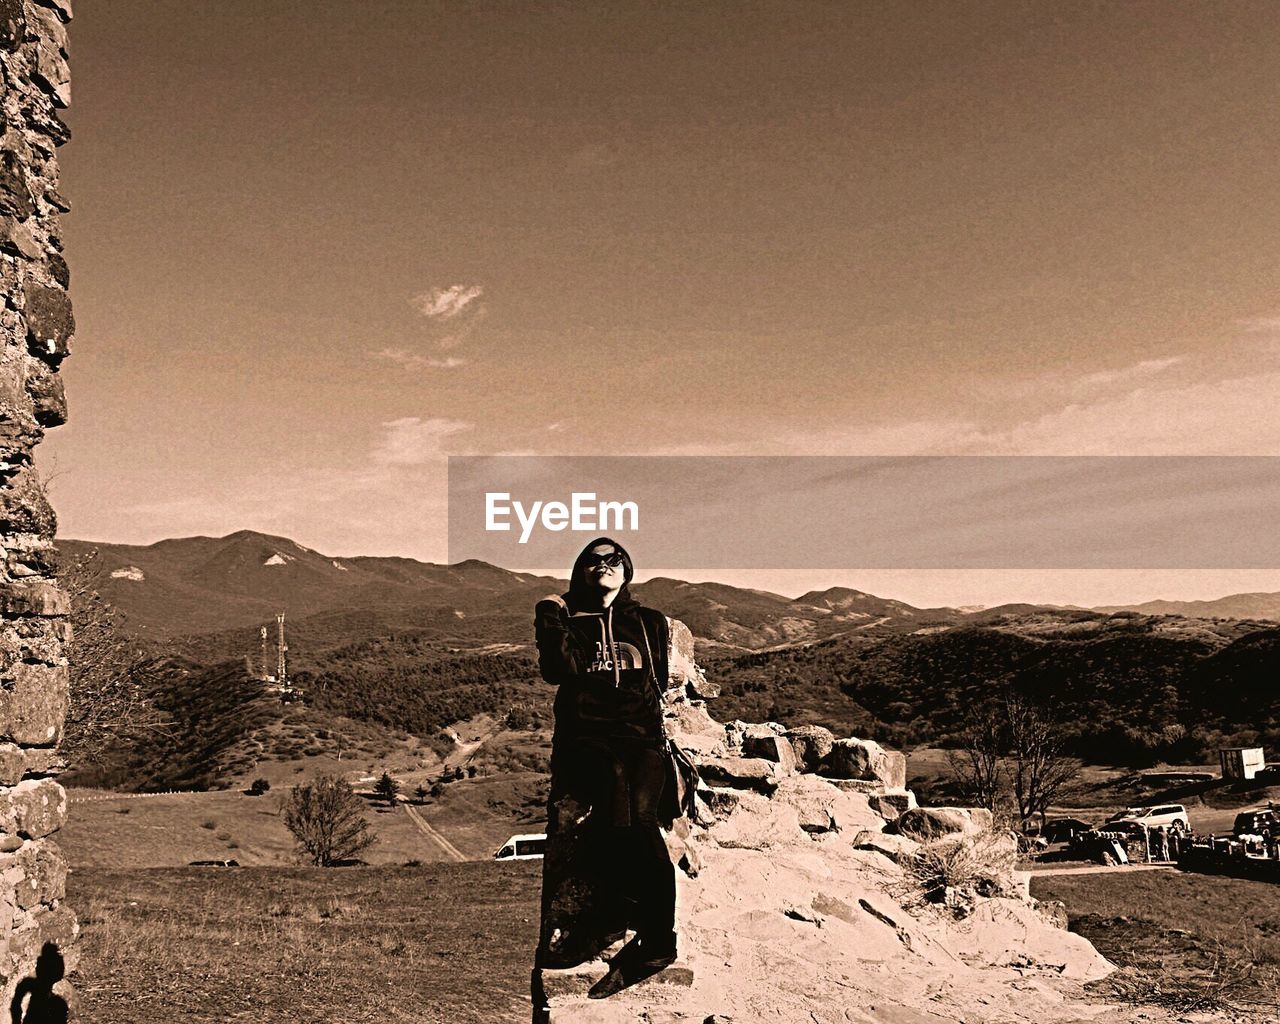
<path id="1" fill-rule="evenodd" d="M 460 645 L 527 644 L 534 603 L 562 591 L 562 579 L 511 572 L 485 562 L 434 564 L 412 558 L 334 558 L 294 540 L 241 530 L 148 545 L 60 540 L 64 559 L 93 559 L 93 586 L 138 637 L 248 650 L 261 626 L 288 617 L 291 637 L 323 645 L 413 630 Z M 1280 620 L 1280 594 L 1211 602 L 1147 602 L 1098 609 L 1005 604 L 915 608 L 849 588 L 786 598 L 716 582 L 655 577 L 636 596 L 682 620 L 704 645 L 760 650 L 836 635 L 890 636 L 955 626 L 992 626 L 1097 614 Z M 197 640 L 196 637 L 202 637 Z M 274 639 L 274 637 L 273 637 Z M 296 644 L 305 649 L 305 644 Z M 211 652 L 210 652 L 211 653 Z"/>

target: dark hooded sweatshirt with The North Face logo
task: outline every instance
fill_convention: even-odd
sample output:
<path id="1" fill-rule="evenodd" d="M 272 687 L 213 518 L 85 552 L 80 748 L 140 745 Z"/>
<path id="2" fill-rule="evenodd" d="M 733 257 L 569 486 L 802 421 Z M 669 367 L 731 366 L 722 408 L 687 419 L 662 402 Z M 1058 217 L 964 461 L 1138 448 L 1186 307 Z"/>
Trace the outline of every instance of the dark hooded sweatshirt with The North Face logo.
<path id="1" fill-rule="evenodd" d="M 591 600 L 585 562 L 590 549 L 603 543 L 622 554 L 625 582 L 602 609 Z M 662 741 L 658 690 L 666 687 L 669 627 L 662 612 L 631 596 L 631 558 L 622 545 L 599 538 L 573 563 L 568 593 L 538 603 L 539 669 L 559 687 L 557 742 L 579 737 Z"/>

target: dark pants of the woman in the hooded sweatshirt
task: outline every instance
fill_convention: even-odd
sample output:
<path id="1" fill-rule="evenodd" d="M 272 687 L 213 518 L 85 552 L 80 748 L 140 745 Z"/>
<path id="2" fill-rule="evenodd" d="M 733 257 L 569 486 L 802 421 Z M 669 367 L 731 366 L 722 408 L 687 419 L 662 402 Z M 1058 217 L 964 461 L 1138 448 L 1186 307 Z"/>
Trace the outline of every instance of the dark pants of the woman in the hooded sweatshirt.
<path id="1" fill-rule="evenodd" d="M 669 942 L 676 927 L 676 870 L 658 826 L 666 782 L 667 754 L 644 740 L 559 742 L 552 755 L 552 800 L 591 808 L 602 872 L 641 941 Z"/>

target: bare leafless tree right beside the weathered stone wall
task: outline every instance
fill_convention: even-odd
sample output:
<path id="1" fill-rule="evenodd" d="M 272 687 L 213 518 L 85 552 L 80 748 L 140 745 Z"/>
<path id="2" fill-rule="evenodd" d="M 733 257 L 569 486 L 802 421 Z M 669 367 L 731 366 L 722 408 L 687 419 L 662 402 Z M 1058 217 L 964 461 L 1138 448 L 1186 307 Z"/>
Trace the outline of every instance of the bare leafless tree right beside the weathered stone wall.
<path id="1" fill-rule="evenodd" d="M 97 550 L 58 567 L 59 584 L 72 599 L 61 753 L 73 765 L 92 763 L 111 742 L 163 730 L 166 722 L 150 696 L 155 659 L 120 628 L 119 612 L 99 593 L 102 571 Z"/>

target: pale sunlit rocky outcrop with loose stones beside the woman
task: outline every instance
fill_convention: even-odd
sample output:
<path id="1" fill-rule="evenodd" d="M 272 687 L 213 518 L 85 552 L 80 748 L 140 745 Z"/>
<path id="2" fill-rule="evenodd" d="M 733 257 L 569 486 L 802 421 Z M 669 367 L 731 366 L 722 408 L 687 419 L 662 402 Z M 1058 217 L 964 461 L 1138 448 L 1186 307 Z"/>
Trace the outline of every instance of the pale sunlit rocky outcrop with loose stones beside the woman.
<path id="1" fill-rule="evenodd" d="M 721 726 L 681 682 L 668 700 L 673 737 L 707 751 L 695 755 L 703 823 L 668 837 L 681 867 L 675 973 L 591 1001 L 603 960 L 544 972 L 550 1020 L 1172 1019 L 1085 1004 L 1083 986 L 1111 965 L 1018 884 L 1012 836 L 989 814 L 916 808 L 897 751 L 826 730 Z"/>

